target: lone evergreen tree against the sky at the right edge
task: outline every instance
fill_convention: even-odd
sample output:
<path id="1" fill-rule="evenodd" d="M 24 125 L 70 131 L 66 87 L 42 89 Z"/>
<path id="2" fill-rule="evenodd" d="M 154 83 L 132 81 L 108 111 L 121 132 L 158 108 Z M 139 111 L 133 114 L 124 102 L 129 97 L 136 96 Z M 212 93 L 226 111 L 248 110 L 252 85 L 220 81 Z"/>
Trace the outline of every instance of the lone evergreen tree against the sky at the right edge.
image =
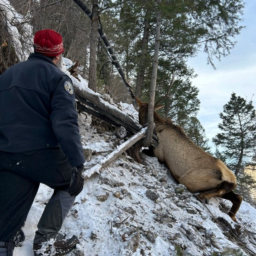
<path id="1" fill-rule="evenodd" d="M 216 155 L 237 176 L 255 157 L 256 111 L 251 100 L 232 93 L 219 116 L 222 132 L 212 139 L 218 149 Z"/>

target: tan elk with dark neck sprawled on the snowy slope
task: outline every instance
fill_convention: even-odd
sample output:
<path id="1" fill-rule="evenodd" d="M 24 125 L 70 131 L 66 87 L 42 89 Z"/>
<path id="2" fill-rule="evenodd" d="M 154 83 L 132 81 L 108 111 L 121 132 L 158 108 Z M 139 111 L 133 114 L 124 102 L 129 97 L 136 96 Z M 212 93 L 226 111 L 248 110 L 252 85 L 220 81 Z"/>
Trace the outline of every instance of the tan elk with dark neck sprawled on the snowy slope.
<path id="1" fill-rule="evenodd" d="M 139 122 L 147 121 L 148 103 L 137 98 Z M 155 106 L 155 110 L 161 108 Z M 230 200 L 233 205 L 229 215 L 236 221 L 242 197 L 232 190 L 236 188 L 236 176 L 219 159 L 211 156 L 186 136 L 183 129 L 171 119 L 163 119 L 154 111 L 155 131 L 158 145 L 153 148 L 154 156 L 165 163 L 175 179 L 191 192 L 202 191 L 201 200 L 218 196 Z"/>

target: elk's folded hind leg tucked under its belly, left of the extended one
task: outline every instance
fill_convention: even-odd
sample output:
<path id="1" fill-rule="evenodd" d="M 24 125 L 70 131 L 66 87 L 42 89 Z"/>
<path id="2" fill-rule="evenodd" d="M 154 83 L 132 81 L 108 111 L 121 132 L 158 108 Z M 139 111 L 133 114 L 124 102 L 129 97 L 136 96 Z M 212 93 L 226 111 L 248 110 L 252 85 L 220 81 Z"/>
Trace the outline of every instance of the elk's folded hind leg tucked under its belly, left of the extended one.
<path id="1" fill-rule="evenodd" d="M 215 189 L 208 190 L 206 192 L 200 193 L 198 197 L 204 201 L 206 198 L 212 198 L 214 196 L 222 197 L 227 192 L 236 188 L 236 184 L 228 181 L 223 181 L 220 186 Z"/>

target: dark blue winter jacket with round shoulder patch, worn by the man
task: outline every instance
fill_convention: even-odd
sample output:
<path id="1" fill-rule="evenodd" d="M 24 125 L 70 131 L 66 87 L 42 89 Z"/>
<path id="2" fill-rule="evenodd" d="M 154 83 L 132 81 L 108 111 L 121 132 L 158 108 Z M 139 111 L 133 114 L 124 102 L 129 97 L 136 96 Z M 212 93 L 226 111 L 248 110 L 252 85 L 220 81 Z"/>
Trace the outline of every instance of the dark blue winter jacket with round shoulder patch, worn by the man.
<path id="1" fill-rule="evenodd" d="M 0 76 L 0 151 L 61 148 L 71 166 L 85 162 L 69 76 L 32 53 Z"/>

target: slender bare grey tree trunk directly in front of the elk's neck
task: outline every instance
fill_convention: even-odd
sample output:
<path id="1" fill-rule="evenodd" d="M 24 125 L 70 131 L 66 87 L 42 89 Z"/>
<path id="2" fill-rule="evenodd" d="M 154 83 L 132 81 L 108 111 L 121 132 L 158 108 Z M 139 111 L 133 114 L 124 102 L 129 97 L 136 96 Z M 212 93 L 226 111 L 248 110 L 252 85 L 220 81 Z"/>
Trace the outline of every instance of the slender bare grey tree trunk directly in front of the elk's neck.
<path id="1" fill-rule="evenodd" d="M 158 6 L 160 7 L 161 0 L 158 0 L 157 3 L 158 3 Z M 159 55 L 159 45 L 160 45 L 160 25 L 161 25 L 161 13 L 160 13 L 160 8 L 158 8 L 156 39 L 155 39 L 155 47 L 154 47 L 154 60 L 153 60 L 150 95 L 149 95 L 149 102 L 148 102 L 148 130 L 145 138 L 143 139 L 144 147 L 148 147 L 151 144 L 151 138 L 154 130 L 154 97 L 156 93 L 156 82 L 157 82 L 157 67 L 158 67 L 158 55 Z"/>

